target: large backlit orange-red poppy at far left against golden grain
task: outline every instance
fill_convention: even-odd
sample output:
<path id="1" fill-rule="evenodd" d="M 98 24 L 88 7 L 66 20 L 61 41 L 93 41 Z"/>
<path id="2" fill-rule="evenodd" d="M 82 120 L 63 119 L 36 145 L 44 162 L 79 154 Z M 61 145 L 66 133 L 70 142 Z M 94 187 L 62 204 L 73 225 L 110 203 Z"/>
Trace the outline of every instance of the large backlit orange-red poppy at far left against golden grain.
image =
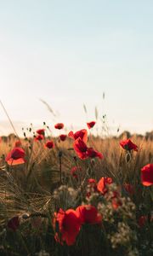
<path id="1" fill-rule="evenodd" d="M 26 162 L 23 148 L 14 148 L 5 158 L 9 166 L 21 165 Z"/>

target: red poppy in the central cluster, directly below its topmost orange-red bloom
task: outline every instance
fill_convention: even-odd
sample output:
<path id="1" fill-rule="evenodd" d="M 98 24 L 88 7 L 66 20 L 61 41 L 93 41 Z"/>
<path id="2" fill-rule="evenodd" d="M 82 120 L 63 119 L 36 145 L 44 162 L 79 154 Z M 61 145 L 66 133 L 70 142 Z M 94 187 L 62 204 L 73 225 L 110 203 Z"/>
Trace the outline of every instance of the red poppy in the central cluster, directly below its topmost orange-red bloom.
<path id="1" fill-rule="evenodd" d="M 88 157 L 87 155 L 88 147 L 80 137 L 77 138 L 73 147 L 79 158 L 86 159 Z"/>

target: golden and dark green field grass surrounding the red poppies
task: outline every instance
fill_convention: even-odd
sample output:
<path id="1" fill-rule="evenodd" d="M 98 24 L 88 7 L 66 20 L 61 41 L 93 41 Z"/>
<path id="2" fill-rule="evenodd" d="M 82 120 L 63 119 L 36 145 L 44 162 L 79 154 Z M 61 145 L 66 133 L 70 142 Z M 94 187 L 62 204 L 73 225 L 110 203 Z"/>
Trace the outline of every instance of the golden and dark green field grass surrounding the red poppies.
<path id="1" fill-rule="evenodd" d="M 44 141 L 35 142 L 25 134 L 21 147 L 26 152 L 26 163 L 17 166 L 8 166 L 5 161 L 16 138 L 1 141 L 0 255 L 152 255 L 152 187 L 142 185 L 140 170 L 153 163 L 153 141 L 134 136 L 139 151 L 128 159 L 127 151 L 119 145 L 121 138 L 90 135 L 88 147 L 96 148 L 104 158 L 80 160 L 71 138 L 65 142 L 59 142 L 58 137 L 53 140 L 55 147 L 48 149 Z M 73 166 L 82 169 L 77 179 L 71 175 Z M 111 177 L 114 182 L 106 186 L 105 195 L 94 193 L 88 185 L 88 178 L 98 182 L 101 177 Z M 133 186 L 133 194 L 124 189 L 125 183 Z M 122 206 L 115 210 L 111 195 L 118 188 Z M 60 244 L 54 239 L 59 232 L 59 226 L 53 224 L 54 212 L 59 208 L 76 209 L 82 203 L 98 209 L 103 216 L 101 225 L 85 223 L 72 246 Z M 20 225 L 14 231 L 8 221 L 15 216 L 20 218 Z M 141 216 L 146 222 L 140 227 Z"/>

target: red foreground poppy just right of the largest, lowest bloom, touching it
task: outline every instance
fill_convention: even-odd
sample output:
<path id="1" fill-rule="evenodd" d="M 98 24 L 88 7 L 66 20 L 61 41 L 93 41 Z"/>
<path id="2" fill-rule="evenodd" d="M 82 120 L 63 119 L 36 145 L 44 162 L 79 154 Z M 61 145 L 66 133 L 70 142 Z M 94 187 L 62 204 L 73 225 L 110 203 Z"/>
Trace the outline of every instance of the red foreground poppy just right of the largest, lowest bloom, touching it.
<path id="1" fill-rule="evenodd" d="M 77 207 L 76 212 L 82 224 L 100 224 L 102 217 L 98 210 L 91 205 Z"/>

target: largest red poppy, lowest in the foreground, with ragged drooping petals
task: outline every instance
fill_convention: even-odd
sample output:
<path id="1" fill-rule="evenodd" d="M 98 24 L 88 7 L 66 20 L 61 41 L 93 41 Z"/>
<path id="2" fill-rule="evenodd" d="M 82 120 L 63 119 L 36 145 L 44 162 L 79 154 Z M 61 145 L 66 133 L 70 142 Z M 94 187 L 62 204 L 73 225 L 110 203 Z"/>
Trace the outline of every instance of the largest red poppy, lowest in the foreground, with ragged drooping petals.
<path id="1" fill-rule="evenodd" d="M 73 209 L 67 211 L 59 209 L 59 212 L 55 213 L 55 220 L 59 225 L 59 232 L 56 233 L 55 239 L 60 243 L 65 241 L 68 246 L 73 245 L 81 228 L 77 212 Z"/>

